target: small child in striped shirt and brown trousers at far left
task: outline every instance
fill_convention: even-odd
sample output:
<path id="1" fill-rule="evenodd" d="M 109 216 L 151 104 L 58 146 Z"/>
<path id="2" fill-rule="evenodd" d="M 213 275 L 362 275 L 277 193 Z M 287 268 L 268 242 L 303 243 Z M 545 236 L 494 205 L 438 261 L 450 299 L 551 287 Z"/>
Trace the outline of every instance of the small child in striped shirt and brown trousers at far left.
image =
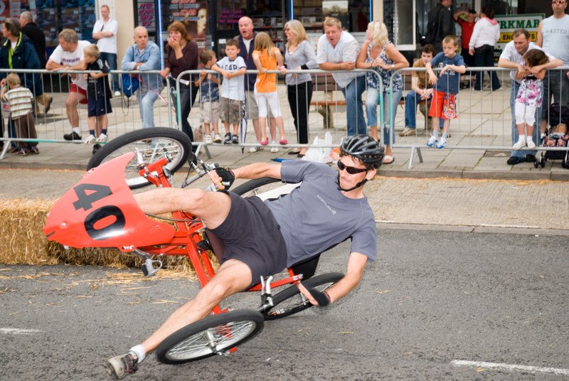
<path id="1" fill-rule="evenodd" d="M 36 123 L 33 119 L 33 94 L 21 86 L 20 77 L 15 73 L 6 76 L 6 86 L 2 87 L 0 98 L 10 105 L 10 117 L 14 121 L 16 138 L 38 139 Z M 18 141 L 18 155 L 39 154 L 37 141 Z"/>

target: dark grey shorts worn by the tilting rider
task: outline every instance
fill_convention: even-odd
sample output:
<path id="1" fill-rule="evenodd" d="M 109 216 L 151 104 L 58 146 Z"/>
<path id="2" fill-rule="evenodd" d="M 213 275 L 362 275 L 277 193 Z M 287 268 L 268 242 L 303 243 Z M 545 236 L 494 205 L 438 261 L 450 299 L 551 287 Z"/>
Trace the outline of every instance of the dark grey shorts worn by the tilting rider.
<path id="1" fill-rule="evenodd" d="M 271 210 L 257 196 L 226 192 L 231 207 L 225 221 L 210 229 L 225 246 L 221 263 L 238 259 L 251 269 L 251 284 L 287 267 L 287 247 Z M 217 254 L 217 253 L 216 253 Z"/>

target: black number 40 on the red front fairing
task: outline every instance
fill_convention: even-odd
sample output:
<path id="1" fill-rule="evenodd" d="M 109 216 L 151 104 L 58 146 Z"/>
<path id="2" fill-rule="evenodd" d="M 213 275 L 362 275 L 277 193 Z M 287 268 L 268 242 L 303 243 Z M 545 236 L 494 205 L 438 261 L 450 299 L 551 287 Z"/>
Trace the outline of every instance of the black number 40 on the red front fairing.
<path id="1" fill-rule="evenodd" d="M 75 210 L 83 209 L 85 212 L 92 208 L 93 203 L 112 195 L 111 188 L 97 184 L 79 184 L 73 190 L 78 197 L 78 200 L 73 203 Z M 99 228 L 95 226 L 97 222 L 101 222 L 99 225 L 104 225 L 104 222 L 110 222 L 110 220 L 114 221 Z M 89 213 L 84 225 L 85 231 L 93 240 L 107 240 L 122 234 L 126 223 L 122 210 L 115 205 L 105 205 Z"/>

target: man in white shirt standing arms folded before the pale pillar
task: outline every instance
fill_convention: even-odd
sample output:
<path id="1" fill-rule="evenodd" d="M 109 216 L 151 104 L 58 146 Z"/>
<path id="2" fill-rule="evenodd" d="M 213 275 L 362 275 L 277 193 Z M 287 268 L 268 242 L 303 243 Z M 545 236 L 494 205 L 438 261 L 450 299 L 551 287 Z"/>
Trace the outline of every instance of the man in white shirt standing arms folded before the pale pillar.
<path id="1" fill-rule="evenodd" d="M 102 63 L 107 63 L 110 70 L 117 70 L 117 29 L 119 23 L 115 18 L 109 17 L 109 6 L 101 6 L 100 20 L 97 20 L 93 26 L 92 37 L 97 40 L 97 47 L 99 48 L 99 59 Z M 115 90 L 115 97 L 119 97 L 119 75 L 112 75 L 112 88 Z"/>

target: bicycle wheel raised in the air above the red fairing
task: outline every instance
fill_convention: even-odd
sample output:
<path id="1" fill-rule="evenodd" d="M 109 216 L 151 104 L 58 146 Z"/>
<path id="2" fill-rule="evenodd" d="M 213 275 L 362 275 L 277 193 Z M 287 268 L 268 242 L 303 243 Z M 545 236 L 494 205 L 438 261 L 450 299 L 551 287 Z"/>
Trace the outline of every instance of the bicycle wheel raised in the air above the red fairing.
<path id="1" fill-rule="evenodd" d="M 174 173 L 188 161 L 188 156 L 192 154 L 191 140 L 184 132 L 165 127 L 128 132 L 112 139 L 97 151 L 87 164 L 87 170 L 128 152 L 134 152 L 136 155 L 127 164 L 124 177 L 131 189 L 142 188 L 151 183 L 139 175 L 137 168 L 139 163 L 153 163 L 169 154 L 172 156 L 172 161 L 166 164 L 165 168 Z"/>

